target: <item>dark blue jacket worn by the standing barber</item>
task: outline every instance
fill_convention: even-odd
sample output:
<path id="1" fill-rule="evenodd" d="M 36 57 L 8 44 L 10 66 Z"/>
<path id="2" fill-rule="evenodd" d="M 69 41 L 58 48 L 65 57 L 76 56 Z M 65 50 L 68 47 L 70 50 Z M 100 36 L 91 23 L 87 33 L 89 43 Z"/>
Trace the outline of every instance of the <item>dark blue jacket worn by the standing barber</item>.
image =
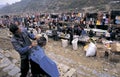
<path id="1" fill-rule="evenodd" d="M 28 58 L 30 53 L 29 46 L 31 45 L 30 39 L 35 39 L 35 36 L 28 33 L 26 29 L 22 29 L 22 37 L 13 36 L 11 38 L 14 49 L 20 54 L 21 59 Z"/>

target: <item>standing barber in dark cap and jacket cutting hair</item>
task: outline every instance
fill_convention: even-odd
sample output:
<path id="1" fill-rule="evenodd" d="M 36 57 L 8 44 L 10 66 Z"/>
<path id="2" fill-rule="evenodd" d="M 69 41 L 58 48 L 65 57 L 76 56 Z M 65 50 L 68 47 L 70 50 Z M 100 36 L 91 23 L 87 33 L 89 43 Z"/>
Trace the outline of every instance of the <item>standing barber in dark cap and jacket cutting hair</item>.
<path id="1" fill-rule="evenodd" d="M 21 58 L 20 77 L 27 77 L 30 62 L 29 54 L 31 52 L 31 48 L 37 45 L 35 42 L 31 42 L 30 39 L 35 40 L 38 39 L 38 37 L 35 37 L 33 34 L 28 33 L 25 29 L 20 29 L 18 25 L 15 24 L 11 24 L 9 30 L 13 34 L 11 43 L 14 49 L 20 54 Z"/>

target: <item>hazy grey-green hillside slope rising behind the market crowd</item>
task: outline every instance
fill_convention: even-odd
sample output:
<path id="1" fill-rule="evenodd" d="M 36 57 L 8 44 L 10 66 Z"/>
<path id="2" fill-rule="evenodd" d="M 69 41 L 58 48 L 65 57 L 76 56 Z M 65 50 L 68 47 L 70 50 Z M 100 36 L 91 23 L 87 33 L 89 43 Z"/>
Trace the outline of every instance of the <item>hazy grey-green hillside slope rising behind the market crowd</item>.
<path id="1" fill-rule="evenodd" d="M 79 11 L 85 7 L 98 10 L 120 9 L 120 2 L 111 1 L 114 0 L 22 0 L 2 8 L 0 13 Z"/>

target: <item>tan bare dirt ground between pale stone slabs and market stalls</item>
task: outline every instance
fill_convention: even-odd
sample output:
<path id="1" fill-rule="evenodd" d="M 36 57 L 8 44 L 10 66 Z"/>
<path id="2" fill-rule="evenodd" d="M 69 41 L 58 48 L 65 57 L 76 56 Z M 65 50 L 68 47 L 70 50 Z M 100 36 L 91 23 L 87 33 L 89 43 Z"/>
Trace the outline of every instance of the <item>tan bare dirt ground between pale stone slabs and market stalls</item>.
<path id="1" fill-rule="evenodd" d="M 7 34 L 7 29 L 0 29 L 0 48 L 11 50 L 13 47 Z M 77 77 L 120 77 L 120 62 L 111 62 L 108 58 L 86 57 L 82 45 L 74 51 L 72 45 L 63 48 L 61 40 L 53 41 L 49 38 L 45 51 L 48 56 L 53 53 L 57 62 L 75 68 L 79 73 Z M 62 57 L 62 60 L 57 59 L 58 57 Z"/>

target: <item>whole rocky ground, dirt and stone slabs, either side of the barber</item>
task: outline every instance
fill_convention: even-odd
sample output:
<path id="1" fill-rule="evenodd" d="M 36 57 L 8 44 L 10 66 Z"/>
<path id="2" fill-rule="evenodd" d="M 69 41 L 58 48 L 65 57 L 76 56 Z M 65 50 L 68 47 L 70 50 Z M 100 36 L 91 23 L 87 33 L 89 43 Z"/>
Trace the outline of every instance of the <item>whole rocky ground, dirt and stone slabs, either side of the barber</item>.
<path id="1" fill-rule="evenodd" d="M 20 59 L 10 43 L 8 33 L 7 29 L 0 29 L 0 77 L 19 77 Z M 86 57 L 82 45 L 75 51 L 72 45 L 63 48 L 61 40 L 49 38 L 45 52 L 57 63 L 61 77 L 120 77 L 120 62 Z"/>

